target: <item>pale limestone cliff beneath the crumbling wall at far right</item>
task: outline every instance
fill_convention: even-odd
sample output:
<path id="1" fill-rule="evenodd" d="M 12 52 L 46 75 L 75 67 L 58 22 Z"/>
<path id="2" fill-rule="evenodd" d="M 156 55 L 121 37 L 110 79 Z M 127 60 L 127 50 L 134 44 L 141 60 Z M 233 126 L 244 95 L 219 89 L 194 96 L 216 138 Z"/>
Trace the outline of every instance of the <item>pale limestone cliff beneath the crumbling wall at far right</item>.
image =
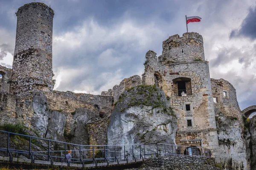
<path id="1" fill-rule="evenodd" d="M 236 117 L 216 114 L 219 155 L 227 170 L 248 170 L 242 130 Z"/>

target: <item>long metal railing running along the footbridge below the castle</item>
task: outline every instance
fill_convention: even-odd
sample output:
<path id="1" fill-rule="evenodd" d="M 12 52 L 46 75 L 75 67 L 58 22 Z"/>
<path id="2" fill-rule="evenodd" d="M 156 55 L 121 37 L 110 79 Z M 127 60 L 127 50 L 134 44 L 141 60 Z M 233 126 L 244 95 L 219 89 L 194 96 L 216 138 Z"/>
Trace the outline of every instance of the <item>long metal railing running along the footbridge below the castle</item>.
<path id="1" fill-rule="evenodd" d="M 22 135 L 0 130 L 1 147 L 0 155 L 7 155 L 9 161 L 13 158 L 22 156 L 30 159 L 32 163 L 35 160 L 54 162 L 65 162 L 67 166 L 70 163 L 94 164 L 116 162 L 119 164 L 128 163 L 129 160 L 136 162 L 138 159 L 147 159 L 149 157 L 169 156 L 169 155 L 187 155 L 211 157 L 211 151 L 207 148 L 180 146 L 173 144 L 151 143 L 134 145 L 80 145 L 68 142 L 60 142 L 51 139 L 44 139 L 35 136 Z M 4 140 L 6 139 L 6 140 Z M 15 143 L 15 139 L 23 141 L 22 148 Z M 68 161 L 67 150 L 71 150 L 72 158 Z"/>

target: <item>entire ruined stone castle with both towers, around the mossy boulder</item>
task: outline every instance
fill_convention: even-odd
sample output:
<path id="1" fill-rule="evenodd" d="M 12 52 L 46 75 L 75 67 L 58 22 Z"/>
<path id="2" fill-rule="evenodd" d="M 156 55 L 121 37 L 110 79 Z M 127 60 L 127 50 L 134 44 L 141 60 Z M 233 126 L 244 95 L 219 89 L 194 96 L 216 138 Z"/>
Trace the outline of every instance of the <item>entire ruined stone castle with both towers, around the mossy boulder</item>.
<path id="1" fill-rule="evenodd" d="M 169 37 L 159 57 L 148 51 L 142 79 L 137 75 L 124 79 L 101 95 L 76 94 L 53 91 L 54 11 L 44 3 L 29 3 L 16 15 L 13 68 L 0 66 L 0 124 L 22 122 L 43 137 L 67 140 L 71 135 L 76 143 L 107 144 L 110 117 L 92 118 L 100 112 L 111 115 L 125 90 L 151 85 L 163 90 L 177 117 L 176 144 L 211 149 L 224 166 L 231 159 L 234 170 L 248 170 L 236 90 L 224 79 L 210 78 L 201 35 L 189 32 Z M 227 144 L 227 139 L 233 143 Z"/>

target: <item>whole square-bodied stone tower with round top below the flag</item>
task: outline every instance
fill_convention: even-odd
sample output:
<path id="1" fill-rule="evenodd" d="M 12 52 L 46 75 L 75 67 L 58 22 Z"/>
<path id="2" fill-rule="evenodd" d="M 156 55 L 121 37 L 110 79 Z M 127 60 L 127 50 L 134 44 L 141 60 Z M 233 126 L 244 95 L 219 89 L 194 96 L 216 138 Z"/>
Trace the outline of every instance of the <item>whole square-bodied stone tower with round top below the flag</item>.
<path id="1" fill-rule="evenodd" d="M 147 52 L 144 65 L 143 84 L 162 88 L 175 111 L 176 143 L 211 149 L 218 160 L 211 79 L 202 36 L 195 32 L 173 35 L 163 41 L 159 57 L 154 51 Z"/>

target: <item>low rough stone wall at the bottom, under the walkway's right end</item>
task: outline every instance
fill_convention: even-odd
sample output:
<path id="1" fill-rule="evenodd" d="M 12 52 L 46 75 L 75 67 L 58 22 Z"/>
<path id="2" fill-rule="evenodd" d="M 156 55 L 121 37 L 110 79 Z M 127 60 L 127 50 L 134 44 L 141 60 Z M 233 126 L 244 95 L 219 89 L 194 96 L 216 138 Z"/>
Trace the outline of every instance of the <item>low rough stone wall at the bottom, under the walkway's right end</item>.
<path id="1" fill-rule="evenodd" d="M 127 169 L 128 170 L 128 169 Z M 131 170 L 131 169 L 129 169 Z M 220 170 L 215 159 L 200 156 L 160 156 L 145 159 L 143 164 L 132 170 Z"/>

